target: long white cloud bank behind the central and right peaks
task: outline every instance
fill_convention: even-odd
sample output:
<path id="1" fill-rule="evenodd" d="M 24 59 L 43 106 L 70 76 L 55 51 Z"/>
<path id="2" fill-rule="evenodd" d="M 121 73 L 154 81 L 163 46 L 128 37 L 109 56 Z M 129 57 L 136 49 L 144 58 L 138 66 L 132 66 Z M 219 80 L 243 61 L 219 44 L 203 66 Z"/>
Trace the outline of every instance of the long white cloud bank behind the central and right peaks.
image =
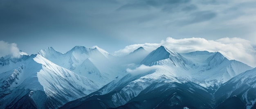
<path id="1" fill-rule="evenodd" d="M 256 67 L 256 49 L 252 45 L 252 42 L 238 37 L 221 38 L 217 40 L 207 40 L 195 37 L 173 39 L 168 37 L 166 40 L 162 40 L 158 44 L 145 43 L 126 46 L 124 49 L 114 52 L 114 55 L 125 55 L 139 47 L 144 47 L 146 50 L 152 51 L 159 46 L 166 46 L 168 49 L 178 53 L 204 50 L 209 52 L 220 52 L 229 59 L 241 61 L 247 65 Z"/>

